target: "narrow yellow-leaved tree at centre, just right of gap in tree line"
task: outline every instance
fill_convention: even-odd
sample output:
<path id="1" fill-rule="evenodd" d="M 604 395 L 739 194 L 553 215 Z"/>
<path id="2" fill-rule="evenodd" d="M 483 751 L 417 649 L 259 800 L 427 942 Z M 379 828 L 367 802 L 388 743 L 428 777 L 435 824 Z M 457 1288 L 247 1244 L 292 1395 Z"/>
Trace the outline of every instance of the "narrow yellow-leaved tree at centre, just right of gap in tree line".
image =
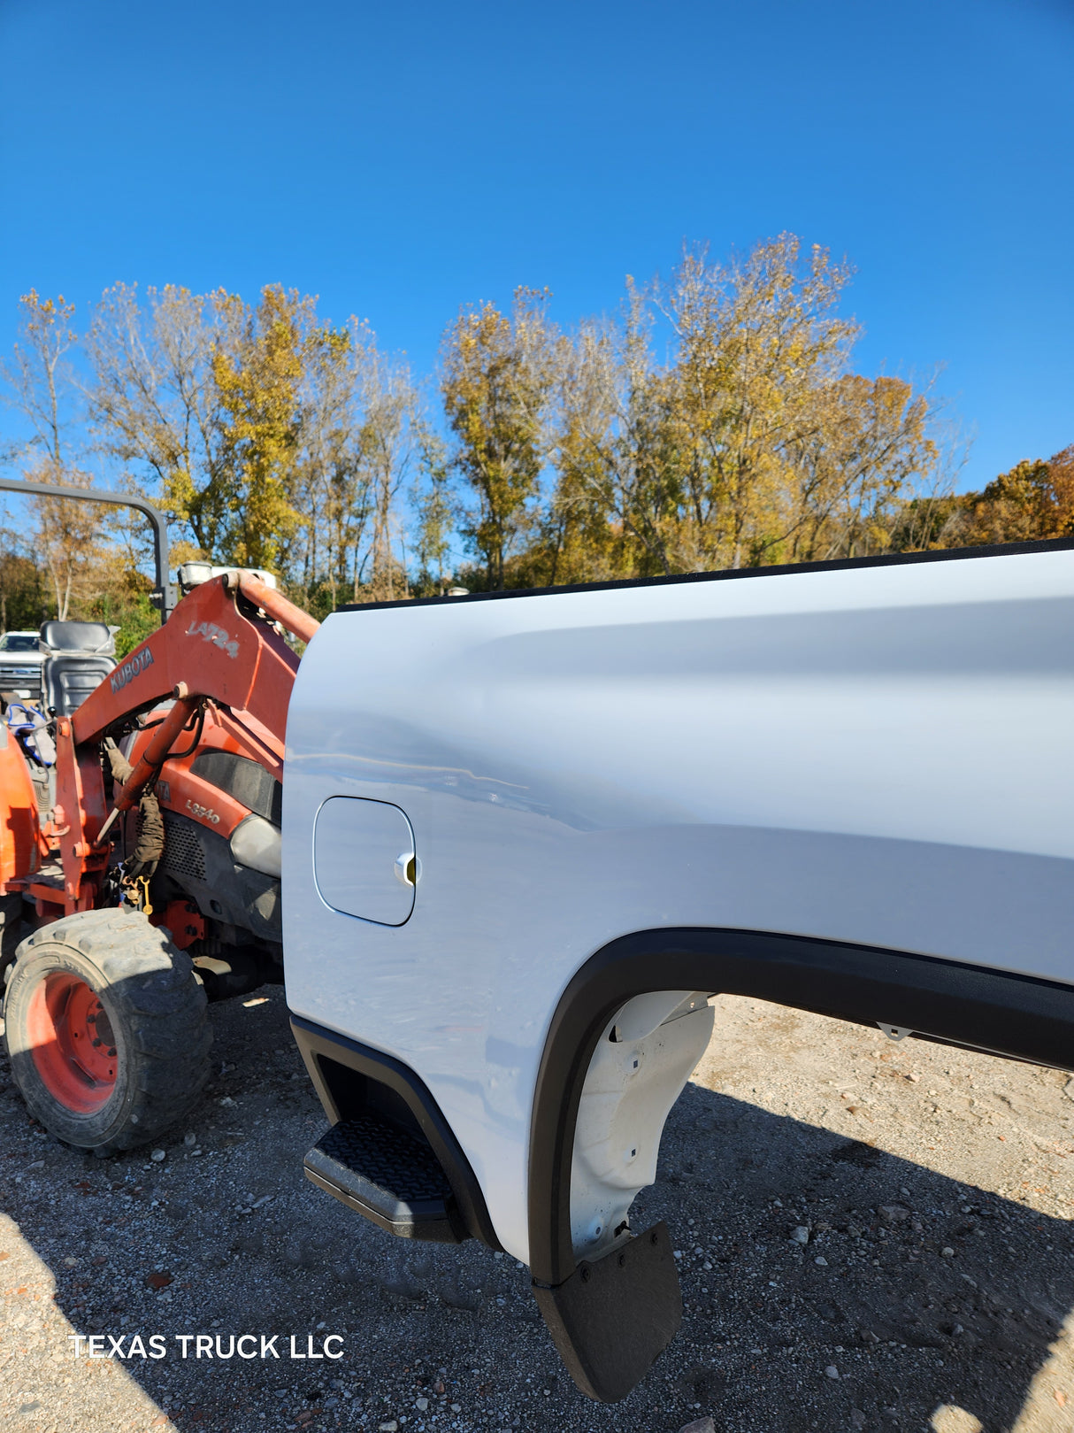
<path id="1" fill-rule="evenodd" d="M 455 436 L 454 466 L 470 502 L 463 533 L 491 589 L 533 530 L 553 390 L 554 334 L 547 291 L 516 289 L 510 314 L 494 304 L 460 312 L 442 344 L 441 396 Z"/>

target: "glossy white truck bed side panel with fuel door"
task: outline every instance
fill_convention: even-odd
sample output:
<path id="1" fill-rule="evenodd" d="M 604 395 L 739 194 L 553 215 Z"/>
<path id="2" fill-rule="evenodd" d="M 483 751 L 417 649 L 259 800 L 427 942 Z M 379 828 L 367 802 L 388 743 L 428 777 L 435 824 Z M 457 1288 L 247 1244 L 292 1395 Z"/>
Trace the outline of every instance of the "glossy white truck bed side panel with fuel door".
<path id="1" fill-rule="evenodd" d="M 288 719 L 289 1006 L 414 1072 L 531 1262 L 538 1072 L 610 943 L 806 937 L 865 977 L 891 952 L 1074 987 L 1073 638 L 1067 549 L 332 615 Z"/>

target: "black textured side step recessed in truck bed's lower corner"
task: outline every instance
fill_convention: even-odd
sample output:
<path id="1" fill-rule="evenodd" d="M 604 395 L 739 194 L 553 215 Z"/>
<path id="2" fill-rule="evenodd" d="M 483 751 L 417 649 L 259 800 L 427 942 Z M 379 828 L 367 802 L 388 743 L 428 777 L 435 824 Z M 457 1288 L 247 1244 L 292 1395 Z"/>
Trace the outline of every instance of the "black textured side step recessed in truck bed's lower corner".
<path id="1" fill-rule="evenodd" d="M 467 1237 L 444 1169 L 430 1145 L 387 1119 L 361 1113 L 322 1135 L 306 1178 L 404 1240 L 461 1244 Z"/>

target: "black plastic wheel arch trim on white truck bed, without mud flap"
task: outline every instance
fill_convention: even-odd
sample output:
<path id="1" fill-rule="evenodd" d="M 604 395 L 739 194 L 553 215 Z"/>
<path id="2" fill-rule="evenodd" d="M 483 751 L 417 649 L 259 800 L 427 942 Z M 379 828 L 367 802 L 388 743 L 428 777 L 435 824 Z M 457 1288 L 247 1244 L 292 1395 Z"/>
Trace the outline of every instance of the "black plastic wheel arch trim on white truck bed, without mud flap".
<path id="1" fill-rule="evenodd" d="M 576 1268 L 573 1164 L 594 1050 L 614 1049 L 607 1036 L 616 1012 L 633 1002 L 649 1009 L 647 1000 L 669 990 L 752 996 L 874 1027 L 888 1023 L 1060 1069 L 1070 1068 L 1074 1048 L 1074 986 L 1058 980 L 769 931 L 666 927 L 621 936 L 567 983 L 537 1072 L 528 1231 L 530 1268 L 541 1284 L 556 1287 Z"/>

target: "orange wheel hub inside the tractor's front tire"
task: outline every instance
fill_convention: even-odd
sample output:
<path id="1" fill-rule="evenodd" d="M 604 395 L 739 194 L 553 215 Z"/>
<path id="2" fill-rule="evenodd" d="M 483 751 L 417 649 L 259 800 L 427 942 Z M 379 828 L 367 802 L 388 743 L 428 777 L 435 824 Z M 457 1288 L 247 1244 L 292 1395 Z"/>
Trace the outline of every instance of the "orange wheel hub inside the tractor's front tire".
<path id="1" fill-rule="evenodd" d="M 100 1109 L 116 1086 L 116 1037 L 107 1012 L 84 980 L 56 970 L 30 997 L 27 1033 L 37 1073 L 79 1115 Z"/>

